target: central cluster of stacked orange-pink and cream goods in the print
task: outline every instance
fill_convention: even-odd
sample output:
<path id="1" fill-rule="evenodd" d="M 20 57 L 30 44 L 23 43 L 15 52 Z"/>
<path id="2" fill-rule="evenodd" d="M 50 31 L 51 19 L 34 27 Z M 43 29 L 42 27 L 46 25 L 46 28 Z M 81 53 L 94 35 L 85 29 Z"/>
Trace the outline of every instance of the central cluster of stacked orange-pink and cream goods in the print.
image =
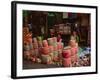
<path id="1" fill-rule="evenodd" d="M 56 64 L 60 62 L 63 44 L 57 42 L 57 38 L 43 40 L 42 62 L 46 64 Z"/>

